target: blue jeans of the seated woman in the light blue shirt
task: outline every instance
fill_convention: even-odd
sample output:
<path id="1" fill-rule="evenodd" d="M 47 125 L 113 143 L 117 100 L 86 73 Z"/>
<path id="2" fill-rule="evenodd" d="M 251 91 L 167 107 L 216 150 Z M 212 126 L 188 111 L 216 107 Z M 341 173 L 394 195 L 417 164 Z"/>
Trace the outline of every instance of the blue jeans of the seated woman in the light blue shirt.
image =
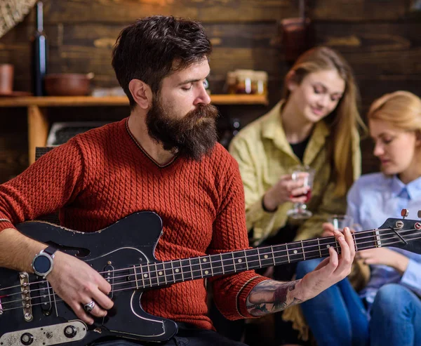
<path id="1" fill-rule="evenodd" d="M 297 277 L 304 277 L 320 261 L 300 262 Z M 370 319 L 348 279 L 301 306 L 319 346 L 421 345 L 421 300 L 400 284 L 385 284 L 380 288 L 371 307 Z"/>

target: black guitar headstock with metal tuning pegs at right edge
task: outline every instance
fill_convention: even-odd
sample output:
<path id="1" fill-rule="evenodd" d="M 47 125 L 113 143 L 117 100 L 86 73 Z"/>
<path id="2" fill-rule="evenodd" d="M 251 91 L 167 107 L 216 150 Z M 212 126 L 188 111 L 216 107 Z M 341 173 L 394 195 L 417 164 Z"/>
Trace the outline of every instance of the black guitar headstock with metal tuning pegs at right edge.
<path id="1" fill-rule="evenodd" d="M 401 219 L 388 218 L 378 229 L 382 246 L 403 248 L 413 253 L 421 253 L 421 221 L 406 219 L 408 209 L 402 209 Z M 417 213 L 421 218 L 421 211 Z"/>

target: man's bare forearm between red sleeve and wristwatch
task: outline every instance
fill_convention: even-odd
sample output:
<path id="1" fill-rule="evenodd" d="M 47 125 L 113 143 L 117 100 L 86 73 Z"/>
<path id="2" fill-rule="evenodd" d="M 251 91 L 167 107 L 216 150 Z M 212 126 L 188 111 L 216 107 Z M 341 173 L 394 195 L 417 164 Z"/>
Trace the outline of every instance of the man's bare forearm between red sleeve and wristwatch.
<path id="1" fill-rule="evenodd" d="M 34 256 L 45 247 L 16 229 L 6 228 L 0 232 L 0 267 L 32 272 Z"/>

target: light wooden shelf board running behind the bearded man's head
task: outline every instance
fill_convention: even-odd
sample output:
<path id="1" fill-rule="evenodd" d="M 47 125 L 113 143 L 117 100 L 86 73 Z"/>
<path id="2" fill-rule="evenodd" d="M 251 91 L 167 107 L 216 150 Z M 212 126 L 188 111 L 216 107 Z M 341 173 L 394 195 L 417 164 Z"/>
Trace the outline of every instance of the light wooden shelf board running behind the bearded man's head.
<path id="1" fill-rule="evenodd" d="M 215 105 L 267 105 L 267 95 L 210 95 Z M 126 106 L 126 96 L 31 96 L 21 98 L 0 98 L 0 107 L 90 107 Z"/>

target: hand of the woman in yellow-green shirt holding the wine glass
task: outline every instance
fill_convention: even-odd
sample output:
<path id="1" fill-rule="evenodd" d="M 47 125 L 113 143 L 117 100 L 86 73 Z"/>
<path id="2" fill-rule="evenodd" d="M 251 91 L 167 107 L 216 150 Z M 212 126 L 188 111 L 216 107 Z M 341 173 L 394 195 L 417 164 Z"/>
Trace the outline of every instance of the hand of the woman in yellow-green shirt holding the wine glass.
<path id="1" fill-rule="evenodd" d="M 274 211 L 285 202 L 305 203 L 309 187 L 303 186 L 308 173 L 299 173 L 298 179 L 293 180 L 290 174 L 281 178 L 267 190 L 263 196 L 263 203 L 269 211 Z"/>

